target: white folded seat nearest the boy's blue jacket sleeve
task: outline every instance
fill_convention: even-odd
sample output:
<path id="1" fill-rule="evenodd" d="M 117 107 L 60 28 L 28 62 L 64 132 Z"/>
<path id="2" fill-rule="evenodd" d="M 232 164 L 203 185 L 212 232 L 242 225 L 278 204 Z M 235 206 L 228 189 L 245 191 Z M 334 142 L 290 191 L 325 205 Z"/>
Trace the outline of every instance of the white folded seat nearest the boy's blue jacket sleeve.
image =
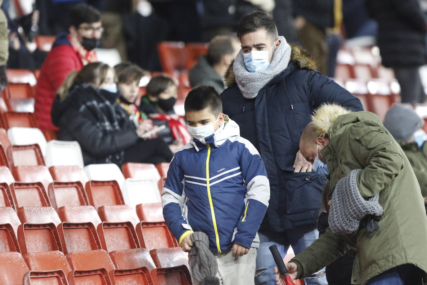
<path id="1" fill-rule="evenodd" d="M 123 197 L 129 197 L 129 206 L 135 207 L 138 204 L 161 203 L 161 196 L 158 185 L 152 179 L 128 178 L 123 186 Z"/>

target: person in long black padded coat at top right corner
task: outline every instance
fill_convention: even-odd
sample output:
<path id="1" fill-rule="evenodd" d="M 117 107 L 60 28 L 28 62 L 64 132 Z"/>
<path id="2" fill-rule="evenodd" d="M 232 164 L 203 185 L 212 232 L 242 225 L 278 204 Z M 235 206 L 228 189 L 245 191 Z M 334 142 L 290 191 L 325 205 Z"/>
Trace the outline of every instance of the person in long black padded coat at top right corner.
<path id="1" fill-rule="evenodd" d="M 369 0 L 366 5 L 378 22 L 377 45 L 382 64 L 395 71 L 402 103 L 424 103 L 418 68 L 427 63 L 427 29 L 418 0 Z"/>

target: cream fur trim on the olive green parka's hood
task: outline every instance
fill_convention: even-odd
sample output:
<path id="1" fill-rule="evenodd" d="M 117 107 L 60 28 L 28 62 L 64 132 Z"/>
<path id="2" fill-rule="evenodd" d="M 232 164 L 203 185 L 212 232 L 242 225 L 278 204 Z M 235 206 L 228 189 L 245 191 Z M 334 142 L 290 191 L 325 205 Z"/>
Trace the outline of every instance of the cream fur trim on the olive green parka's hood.
<path id="1" fill-rule="evenodd" d="M 330 126 L 336 119 L 348 113 L 351 113 L 351 111 L 338 104 L 322 104 L 322 106 L 314 111 L 314 115 L 311 116 L 313 125 L 316 128 L 316 135 L 324 138 L 328 135 Z"/>

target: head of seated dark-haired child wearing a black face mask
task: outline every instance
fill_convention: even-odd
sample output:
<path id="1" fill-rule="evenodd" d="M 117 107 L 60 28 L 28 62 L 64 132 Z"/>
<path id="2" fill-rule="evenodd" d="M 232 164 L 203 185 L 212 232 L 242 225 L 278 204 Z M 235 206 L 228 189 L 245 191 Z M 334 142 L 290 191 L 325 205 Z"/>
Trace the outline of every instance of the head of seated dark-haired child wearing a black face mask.
<path id="1" fill-rule="evenodd" d="M 178 89 L 172 78 L 164 75 L 154 76 L 146 86 L 146 96 L 142 97 L 140 110 L 147 115 L 175 114 Z"/>

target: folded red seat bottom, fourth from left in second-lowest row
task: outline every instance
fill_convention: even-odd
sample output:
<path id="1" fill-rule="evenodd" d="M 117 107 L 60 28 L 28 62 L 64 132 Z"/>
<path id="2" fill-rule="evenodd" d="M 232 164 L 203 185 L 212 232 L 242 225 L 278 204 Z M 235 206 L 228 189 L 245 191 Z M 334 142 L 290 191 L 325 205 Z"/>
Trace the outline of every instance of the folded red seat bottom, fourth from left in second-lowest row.
<path id="1" fill-rule="evenodd" d="M 131 222 L 103 222 L 98 225 L 97 232 L 102 249 L 107 252 L 140 247 L 135 228 Z"/>

